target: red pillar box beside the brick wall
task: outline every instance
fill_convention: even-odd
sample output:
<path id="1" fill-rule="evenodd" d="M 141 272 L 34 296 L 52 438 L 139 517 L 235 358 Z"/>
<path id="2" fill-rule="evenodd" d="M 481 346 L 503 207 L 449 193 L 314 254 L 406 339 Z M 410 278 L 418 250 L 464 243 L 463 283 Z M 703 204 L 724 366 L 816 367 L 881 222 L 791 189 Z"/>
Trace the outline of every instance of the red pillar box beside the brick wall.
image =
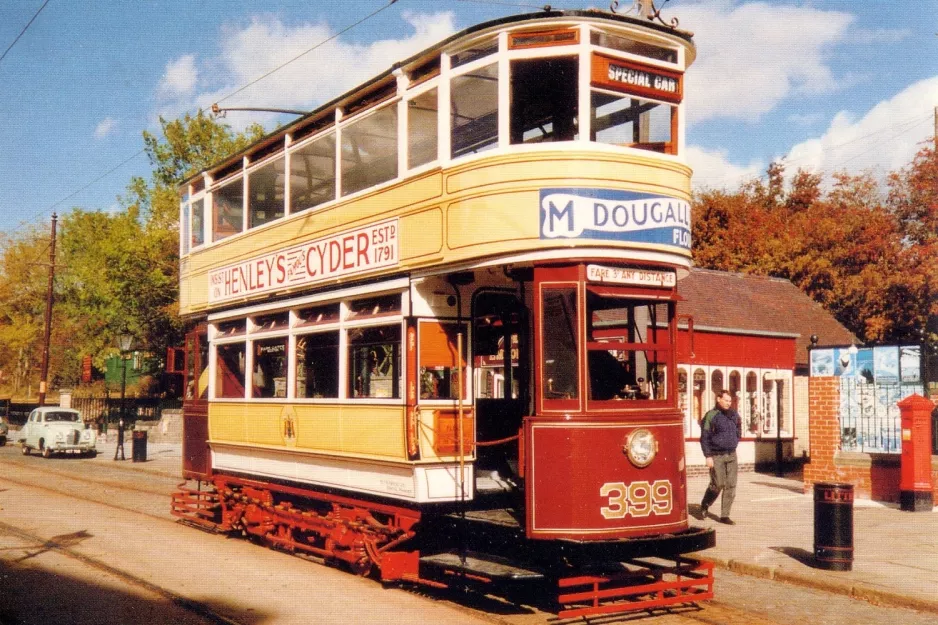
<path id="1" fill-rule="evenodd" d="M 902 415 L 899 507 L 909 512 L 931 511 L 931 411 L 935 404 L 921 395 L 910 395 L 898 406 Z"/>

